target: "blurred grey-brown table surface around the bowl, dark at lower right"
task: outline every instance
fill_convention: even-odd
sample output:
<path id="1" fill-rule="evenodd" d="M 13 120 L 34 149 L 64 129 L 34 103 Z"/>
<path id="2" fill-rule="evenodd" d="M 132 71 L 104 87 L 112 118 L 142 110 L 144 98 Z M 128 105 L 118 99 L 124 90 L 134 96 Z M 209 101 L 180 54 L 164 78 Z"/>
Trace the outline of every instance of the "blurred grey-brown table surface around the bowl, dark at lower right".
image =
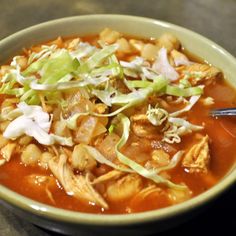
<path id="1" fill-rule="evenodd" d="M 196 31 L 236 56 L 236 0 L 0 0 L 0 39 L 40 22 L 84 14 L 129 14 L 168 21 Z M 115 4 L 114 4 L 115 3 Z M 236 232 L 236 188 L 201 215 L 160 235 Z M 56 235 L 0 206 L 0 236 Z"/>

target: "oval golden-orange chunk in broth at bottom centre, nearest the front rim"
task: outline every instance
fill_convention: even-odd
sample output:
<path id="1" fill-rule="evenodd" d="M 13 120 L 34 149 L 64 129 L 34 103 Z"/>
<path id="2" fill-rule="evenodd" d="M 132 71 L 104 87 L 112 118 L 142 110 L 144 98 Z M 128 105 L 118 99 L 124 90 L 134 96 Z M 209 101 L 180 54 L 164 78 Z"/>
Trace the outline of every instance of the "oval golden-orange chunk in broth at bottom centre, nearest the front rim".
<path id="1" fill-rule="evenodd" d="M 129 174 L 107 187 L 107 198 L 112 202 L 129 199 L 142 189 L 142 179 L 137 174 Z"/>

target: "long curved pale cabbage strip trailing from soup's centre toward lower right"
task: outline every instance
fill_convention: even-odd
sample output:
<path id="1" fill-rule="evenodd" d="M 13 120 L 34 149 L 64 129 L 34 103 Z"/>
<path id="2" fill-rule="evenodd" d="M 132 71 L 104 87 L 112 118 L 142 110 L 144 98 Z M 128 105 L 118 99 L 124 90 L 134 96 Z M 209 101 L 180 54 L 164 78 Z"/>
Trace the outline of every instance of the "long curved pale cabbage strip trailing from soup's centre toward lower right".
<path id="1" fill-rule="evenodd" d="M 186 189 L 186 186 L 184 185 L 179 185 L 171 182 L 170 180 L 167 180 L 163 178 L 162 176 L 158 175 L 155 171 L 147 170 L 137 162 L 131 160 L 124 154 L 120 152 L 120 149 L 125 145 L 129 138 L 129 130 L 130 130 L 130 120 L 123 114 L 119 114 L 118 119 L 120 119 L 122 125 L 123 125 L 123 133 L 122 137 L 119 140 L 119 142 L 115 146 L 115 152 L 116 155 L 121 163 L 123 163 L 126 166 L 129 166 L 132 170 L 134 170 L 136 173 L 139 175 L 143 176 L 144 178 L 150 179 L 154 181 L 157 184 L 164 184 L 169 188 L 175 188 L 175 189 L 180 189 L 184 190 Z"/>

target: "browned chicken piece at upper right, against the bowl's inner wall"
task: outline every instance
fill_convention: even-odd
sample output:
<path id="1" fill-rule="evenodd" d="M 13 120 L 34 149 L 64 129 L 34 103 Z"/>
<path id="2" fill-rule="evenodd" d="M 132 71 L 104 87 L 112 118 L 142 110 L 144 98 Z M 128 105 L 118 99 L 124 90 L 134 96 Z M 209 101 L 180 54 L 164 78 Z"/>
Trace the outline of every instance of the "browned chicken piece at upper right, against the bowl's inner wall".
<path id="1" fill-rule="evenodd" d="M 194 63 L 186 66 L 184 71 L 189 73 L 190 76 L 193 74 L 192 78 L 190 78 L 192 85 L 197 85 L 203 81 L 207 81 L 210 84 L 214 79 L 222 77 L 222 72 L 219 69 L 207 64 Z"/>

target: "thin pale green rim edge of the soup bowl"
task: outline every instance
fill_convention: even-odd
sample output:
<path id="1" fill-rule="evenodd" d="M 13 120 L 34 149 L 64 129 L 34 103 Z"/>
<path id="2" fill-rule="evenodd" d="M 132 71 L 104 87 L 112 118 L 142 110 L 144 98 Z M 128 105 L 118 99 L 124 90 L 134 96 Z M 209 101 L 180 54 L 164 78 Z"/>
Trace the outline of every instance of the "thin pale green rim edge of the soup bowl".
<path id="1" fill-rule="evenodd" d="M 191 30 L 188 30 L 184 27 L 177 26 L 172 23 L 147 18 L 140 16 L 131 16 L 131 15 L 119 15 L 119 14 L 92 14 L 92 15 L 82 15 L 82 16 L 72 16 L 72 17 L 64 17 L 56 20 L 46 21 L 34 26 L 30 26 L 26 29 L 20 30 L 17 33 L 14 33 L 0 41 L 1 44 L 7 44 L 11 40 L 16 37 L 20 37 L 26 33 L 29 33 L 31 30 L 39 30 L 41 28 L 58 24 L 65 21 L 71 20 L 99 20 L 99 18 L 105 19 L 124 19 L 133 20 L 138 22 L 146 22 L 148 24 L 155 24 L 161 27 L 175 28 L 179 31 L 185 32 L 192 37 L 196 37 L 200 41 L 204 41 L 206 44 L 211 45 L 221 53 L 224 57 L 227 57 L 233 64 L 236 66 L 236 60 L 234 56 L 232 56 L 229 52 L 223 49 L 218 44 L 213 41 L 205 38 L 204 36 L 195 33 Z M 37 216 L 44 217 L 46 219 L 63 221 L 67 223 L 73 224 L 84 224 L 84 225 L 96 225 L 96 226 L 124 226 L 131 224 L 141 224 L 152 221 L 164 220 L 177 215 L 181 215 L 193 209 L 196 209 L 199 206 L 202 206 L 212 199 L 216 198 L 223 192 L 228 189 L 230 186 L 236 183 L 236 169 L 232 171 L 232 173 L 224 176 L 219 183 L 215 186 L 207 190 L 206 192 L 193 197 L 192 199 L 185 201 L 183 203 L 169 206 L 162 209 L 141 212 L 141 213 L 131 213 L 131 214 L 93 214 L 93 213 L 83 213 L 83 212 L 75 212 L 70 210 L 65 210 L 61 208 L 56 208 L 44 203 L 40 203 L 38 201 L 32 200 L 28 197 L 24 197 L 21 194 L 14 192 L 13 190 L 8 189 L 7 187 L 0 184 L 0 199 L 9 203 L 10 205 L 23 209 L 27 212 L 33 213 Z"/>

